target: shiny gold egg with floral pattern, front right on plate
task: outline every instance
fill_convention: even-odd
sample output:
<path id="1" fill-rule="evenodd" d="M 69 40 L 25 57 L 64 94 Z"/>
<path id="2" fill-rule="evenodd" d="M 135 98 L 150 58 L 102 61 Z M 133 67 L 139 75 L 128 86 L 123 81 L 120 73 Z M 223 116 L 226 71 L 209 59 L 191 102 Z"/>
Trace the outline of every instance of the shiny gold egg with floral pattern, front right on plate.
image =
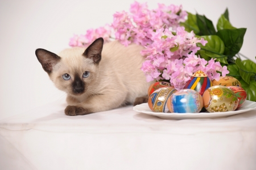
<path id="1" fill-rule="evenodd" d="M 209 112 L 224 112 L 237 109 L 238 98 L 234 92 L 221 85 L 211 86 L 203 94 L 204 107 Z"/>

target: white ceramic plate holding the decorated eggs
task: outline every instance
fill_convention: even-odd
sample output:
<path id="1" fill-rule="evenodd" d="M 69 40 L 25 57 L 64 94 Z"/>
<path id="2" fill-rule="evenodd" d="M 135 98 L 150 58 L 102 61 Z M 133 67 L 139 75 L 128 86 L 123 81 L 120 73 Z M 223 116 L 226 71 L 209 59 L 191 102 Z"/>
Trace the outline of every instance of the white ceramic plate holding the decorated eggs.
<path id="1" fill-rule="evenodd" d="M 141 105 L 136 105 L 133 107 L 134 111 L 139 113 L 146 113 L 150 115 L 155 115 L 162 119 L 198 119 L 198 118 L 222 118 L 228 117 L 230 115 L 243 113 L 250 110 L 255 110 L 256 113 L 256 102 L 245 101 L 243 105 L 235 111 L 226 111 L 226 112 L 214 112 L 214 113 L 162 113 L 162 112 L 153 112 L 148 107 L 147 103 L 142 103 Z"/>

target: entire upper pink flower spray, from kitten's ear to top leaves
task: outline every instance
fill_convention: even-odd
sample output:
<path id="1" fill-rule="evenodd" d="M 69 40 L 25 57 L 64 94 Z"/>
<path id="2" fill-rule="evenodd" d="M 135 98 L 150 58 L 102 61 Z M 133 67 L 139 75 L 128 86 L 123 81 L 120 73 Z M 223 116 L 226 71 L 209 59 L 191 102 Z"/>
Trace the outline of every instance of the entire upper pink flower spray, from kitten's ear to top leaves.
<path id="1" fill-rule="evenodd" d="M 71 47 L 88 47 L 94 40 L 102 37 L 104 42 L 110 41 L 114 31 L 115 39 L 127 46 L 130 43 L 148 45 L 152 43 L 151 34 L 159 28 L 176 30 L 180 22 L 185 21 L 186 11 L 182 6 L 165 6 L 159 4 L 155 10 L 148 9 L 147 3 L 134 2 L 130 13 L 117 12 L 113 15 L 113 23 L 104 27 L 87 30 L 85 35 L 74 35 L 69 45 Z"/>

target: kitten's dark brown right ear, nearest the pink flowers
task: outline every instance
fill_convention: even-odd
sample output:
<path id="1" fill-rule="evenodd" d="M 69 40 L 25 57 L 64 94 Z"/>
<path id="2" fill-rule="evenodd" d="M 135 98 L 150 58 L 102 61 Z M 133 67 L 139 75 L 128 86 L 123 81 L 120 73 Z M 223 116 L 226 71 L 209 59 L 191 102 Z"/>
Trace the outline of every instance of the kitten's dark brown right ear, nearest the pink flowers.
<path id="1" fill-rule="evenodd" d="M 93 60 L 96 64 L 100 63 L 103 43 L 103 38 L 96 39 L 87 49 L 85 49 L 85 52 L 82 55 Z"/>

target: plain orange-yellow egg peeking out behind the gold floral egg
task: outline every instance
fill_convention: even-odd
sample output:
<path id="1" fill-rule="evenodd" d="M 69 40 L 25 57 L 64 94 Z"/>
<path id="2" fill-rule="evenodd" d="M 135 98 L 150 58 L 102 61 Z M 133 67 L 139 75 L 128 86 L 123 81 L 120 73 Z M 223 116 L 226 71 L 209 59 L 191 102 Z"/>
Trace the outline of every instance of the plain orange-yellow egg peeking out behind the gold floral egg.
<path id="1" fill-rule="evenodd" d="M 232 76 L 225 76 L 225 77 L 220 76 L 220 80 L 219 81 L 213 80 L 212 85 L 213 86 L 222 85 L 222 86 L 240 86 L 241 87 L 240 81 L 238 81 L 237 78 L 234 78 Z"/>

